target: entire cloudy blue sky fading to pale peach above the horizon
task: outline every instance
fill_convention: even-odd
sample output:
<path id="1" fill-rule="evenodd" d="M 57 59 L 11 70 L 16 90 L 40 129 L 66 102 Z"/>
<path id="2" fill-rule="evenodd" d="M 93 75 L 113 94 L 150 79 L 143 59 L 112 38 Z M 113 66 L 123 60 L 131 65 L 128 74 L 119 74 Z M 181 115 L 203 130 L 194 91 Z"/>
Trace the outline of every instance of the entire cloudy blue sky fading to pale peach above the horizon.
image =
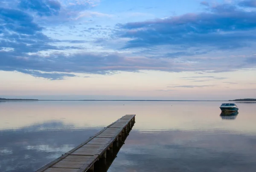
<path id="1" fill-rule="evenodd" d="M 256 0 L 0 0 L 0 97 L 256 98 Z"/>

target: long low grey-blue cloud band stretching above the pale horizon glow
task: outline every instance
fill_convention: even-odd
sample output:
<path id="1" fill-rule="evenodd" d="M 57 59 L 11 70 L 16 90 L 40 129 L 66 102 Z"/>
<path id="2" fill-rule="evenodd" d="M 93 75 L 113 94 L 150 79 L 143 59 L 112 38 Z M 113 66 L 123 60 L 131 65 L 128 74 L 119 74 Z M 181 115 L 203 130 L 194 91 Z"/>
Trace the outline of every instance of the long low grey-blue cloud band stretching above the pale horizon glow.
<path id="1" fill-rule="evenodd" d="M 57 47 L 58 48 L 58 47 Z M 64 48 L 66 49 L 66 48 Z M 32 49 L 33 50 L 33 49 Z M 21 51 L 21 50 L 20 50 Z M 24 52 L 25 50 L 21 51 Z M 234 62 L 239 63 L 237 59 Z M 244 63 L 244 68 L 253 67 L 252 63 Z M 224 64 L 225 66 L 225 64 Z M 219 61 L 208 63 L 198 62 L 177 62 L 175 59 L 154 58 L 146 56 L 132 56 L 125 53 L 96 53 L 96 52 L 79 52 L 79 53 L 50 53 L 50 54 L 20 54 L 12 50 L 0 50 L 0 70 L 20 71 L 27 73 L 27 70 L 41 71 L 40 73 L 31 73 L 33 76 L 54 79 L 52 75 L 56 74 L 56 79 L 61 79 L 58 73 L 96 73 L 96 74 L 113 74 L 119 71 L 140 71 L 140 70 L 159 70 L 170 72 L 181 71 L 220 71 L 224 66 Z M 236 65 L 230 66 L 228 70 L 237 70 Z M 42 73 L 52 73 L 49 74 Z M 70 75 L 73 76 L 73 75 Z M 214 76 L 194 76 L 190 80 L 204 79 L 225 79 L 225 77 Z"/>

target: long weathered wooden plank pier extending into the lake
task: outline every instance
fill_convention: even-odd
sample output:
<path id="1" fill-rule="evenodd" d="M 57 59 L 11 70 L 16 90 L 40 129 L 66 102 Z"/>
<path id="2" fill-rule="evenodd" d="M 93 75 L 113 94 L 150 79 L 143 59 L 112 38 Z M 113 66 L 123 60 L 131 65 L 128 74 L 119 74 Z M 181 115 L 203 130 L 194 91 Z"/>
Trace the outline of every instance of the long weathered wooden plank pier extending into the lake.
<path id="1" fill-rule="evenodd" d="M 113 154 L 117 154 L 115 150 L 119 151 L 124 144 L 134 123 L 135 115 L 122 116 L 84 143 L 36 172 L 93 172 L 94 168 L 97 169 L 100 165 L 107 166 L 107 158 L 114 159 Z"/>

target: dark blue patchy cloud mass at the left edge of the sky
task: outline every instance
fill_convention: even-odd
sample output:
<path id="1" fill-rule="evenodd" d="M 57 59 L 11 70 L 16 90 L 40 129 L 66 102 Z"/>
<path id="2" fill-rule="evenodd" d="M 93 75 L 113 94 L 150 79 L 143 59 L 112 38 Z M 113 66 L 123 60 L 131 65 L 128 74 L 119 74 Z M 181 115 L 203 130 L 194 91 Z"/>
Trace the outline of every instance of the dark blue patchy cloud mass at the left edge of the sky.
<path id="1" fill-rule="evenodd" d="M 81 49 L 81 47 L 73 45 L 52 45 L 53 43 L 61 41 L 51 39 L 43 34 L 43 27 L 35 23 L 32 15 L 24 11 L 0 8 L 0 23 L 2 24 L 0 25 L 0 70 L 14 71 L 18 63 L 21 62 L 17 71 L 28 73 L 27 71 L 29 71 L 30 68 L 26 68 L 27 65 L 22 67 L 22 64 L 26 61 L 28 63 L 31 62 L 29 59 L 26 59 L 31 53 L 48 50 Z M 69 42 L 69 40 L 64 40 L 63 42 Z M 70 40 L 70 42 L 82 43 L 84 41 Z M 41 59 L 38 59 L 38 63 L 35 65 L 38 67 L 41 61 L 44 61 L 43 55 L 41 55 Z M 4 66 L 6 64 L 8 64 L 8 66 Z M 36 66 L 31 68 L 35 70 L 35 68 L 37 68 Z M 75 76 L 71 74 L 39 73 L 36 71 L 34 73 L 30 72 L 29 74 L 49 79 L 62 79 L 64 76 Z"/>

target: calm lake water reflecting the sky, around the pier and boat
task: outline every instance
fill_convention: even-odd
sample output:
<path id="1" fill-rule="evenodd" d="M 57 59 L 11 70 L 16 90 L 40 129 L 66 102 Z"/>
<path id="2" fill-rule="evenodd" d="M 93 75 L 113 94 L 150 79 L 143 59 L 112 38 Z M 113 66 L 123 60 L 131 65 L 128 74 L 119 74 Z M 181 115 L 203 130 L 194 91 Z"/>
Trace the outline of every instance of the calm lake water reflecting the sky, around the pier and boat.
<path id="1" fill-rule="evenodd" d="M 1 102 L 0 172 L 34 172 L 125 114 L 136 124 L 108 172 L 255 172 L 256 103 Z"/>

